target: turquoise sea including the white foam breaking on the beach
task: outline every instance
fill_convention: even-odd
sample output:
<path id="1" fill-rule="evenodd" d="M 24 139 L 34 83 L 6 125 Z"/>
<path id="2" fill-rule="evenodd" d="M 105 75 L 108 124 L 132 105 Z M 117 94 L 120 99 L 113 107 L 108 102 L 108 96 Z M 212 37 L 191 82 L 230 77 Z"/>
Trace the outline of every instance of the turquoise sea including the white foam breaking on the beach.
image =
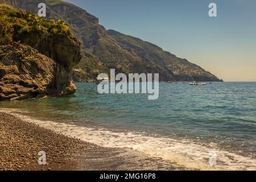
<path id="1" fill-rule="evenodd" d="M 208 169 L 210 151 L 218 156 L 216 169 L 256 167 L 256 82 L 160 82 L 159 98 L 151 101 L 147 94 L 98 94 L 94 83 L 76 85 L 72 96 L 0 107 L 72 124 L 72 132 L 77 129 L 89 142 L 132 148 L 188 168 Z"/>

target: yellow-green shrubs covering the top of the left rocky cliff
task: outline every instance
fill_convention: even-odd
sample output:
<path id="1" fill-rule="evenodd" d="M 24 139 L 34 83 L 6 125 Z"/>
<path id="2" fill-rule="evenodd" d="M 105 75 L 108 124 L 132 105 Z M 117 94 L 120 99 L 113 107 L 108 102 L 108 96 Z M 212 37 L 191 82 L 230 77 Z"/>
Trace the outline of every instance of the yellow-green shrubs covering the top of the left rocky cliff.
<path id="1" fill-rule="evenodd" d="M 30 33 L 48 36 L 75 37 L 63 20 L 46 20 L 32 14 L 30 10 L 17 10 L 13 6 L 0 4 L 0 44 L 12 44 Z"/>

